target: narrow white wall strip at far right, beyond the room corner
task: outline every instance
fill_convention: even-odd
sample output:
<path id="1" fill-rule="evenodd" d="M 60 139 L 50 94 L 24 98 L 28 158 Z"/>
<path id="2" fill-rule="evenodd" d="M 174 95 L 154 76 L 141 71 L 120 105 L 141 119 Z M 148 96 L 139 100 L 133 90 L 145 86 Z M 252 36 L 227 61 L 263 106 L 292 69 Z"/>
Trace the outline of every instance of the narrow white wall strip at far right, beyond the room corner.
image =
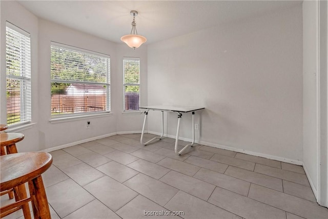
<path id="1" fill-rule="evenodd" d="M 318 195 L 317 142 L 317 8 L 315 1 L 303 2 L 303 166 Z"/>

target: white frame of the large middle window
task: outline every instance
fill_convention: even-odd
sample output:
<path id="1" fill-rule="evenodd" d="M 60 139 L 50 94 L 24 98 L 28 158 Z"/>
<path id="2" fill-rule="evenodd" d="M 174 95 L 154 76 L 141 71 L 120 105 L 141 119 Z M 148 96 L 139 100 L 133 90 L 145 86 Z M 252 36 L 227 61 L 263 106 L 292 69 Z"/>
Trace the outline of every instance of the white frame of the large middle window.
<path id="1" fill-rule="evenodd" d="M 53 115 L 52 114 L 52 109 L 50 111 L 50 122 L 56 123 L 60 121 L 73 121 L 73 120 L 79 120 L 80 118 L 88 118 L 88 117 L 98 117 L 101 116 L 101 114 L 111 114 L 111 59 L 110 55 L 100 53 L 100 52 L 95 52 L 92 50 L 87 50 L 79 47 L 74 47 L 70 46 L 67 44 L 62 44 L 62 43 L 57 43 L 51 41 L 50 44 L 50 65 L 51 65 L 51 49 L 52 46 L 54 47 L 59 47 L 62 49 L 67 49 L 67 50 L 73 50 L 75 52 L 80 52 L 80 53 L 87 53 L 91 55 L 96 55 L 96 56 L 101 56 L 107 59 L 107 82 L 90 82 L 90 81 L 74 81 L 72 79 L 68 80 L 63 80 L 63 79 L 53 79 L 50 76 L 50 84 L 51 83 L 71 83 L 71 84 L 84 84 L 84 85 L 106 85 L 106 110 L 101 110 L 101 111 L 91 111 L 91 112 L 76 112 L 76 113 L 63 113 L 63 114 L 58 114 L 58 115 Z M 51 69 L 50 69 L 50 74 L 51 74 Z M 51 91 L 51 89 L 50 89 Z"/>

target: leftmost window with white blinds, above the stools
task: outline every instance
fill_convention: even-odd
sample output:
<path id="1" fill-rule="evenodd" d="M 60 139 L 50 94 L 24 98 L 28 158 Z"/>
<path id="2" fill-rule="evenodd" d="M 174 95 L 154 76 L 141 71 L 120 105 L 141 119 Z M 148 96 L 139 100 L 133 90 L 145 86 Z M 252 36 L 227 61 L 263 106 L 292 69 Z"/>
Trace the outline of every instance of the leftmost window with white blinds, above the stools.
<path id="1" fill-rule="evenodd" d="M 7 125 L 31 122 L 30 34 L 6 23 Z"/>

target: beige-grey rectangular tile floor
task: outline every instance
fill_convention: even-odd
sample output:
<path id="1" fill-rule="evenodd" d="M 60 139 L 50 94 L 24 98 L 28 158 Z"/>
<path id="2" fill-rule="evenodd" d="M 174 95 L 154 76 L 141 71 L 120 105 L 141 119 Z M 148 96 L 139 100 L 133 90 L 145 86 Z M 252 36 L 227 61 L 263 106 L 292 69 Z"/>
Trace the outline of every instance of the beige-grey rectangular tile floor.
<path id="1" fill-rule="evenodd" d="M 52 218 L 328 218 L 300 166 L 201 145 L 177 156 L 172 138 L 146 147 L 139 139 L 114 135 L 51 152 L 43 178 Z"/>

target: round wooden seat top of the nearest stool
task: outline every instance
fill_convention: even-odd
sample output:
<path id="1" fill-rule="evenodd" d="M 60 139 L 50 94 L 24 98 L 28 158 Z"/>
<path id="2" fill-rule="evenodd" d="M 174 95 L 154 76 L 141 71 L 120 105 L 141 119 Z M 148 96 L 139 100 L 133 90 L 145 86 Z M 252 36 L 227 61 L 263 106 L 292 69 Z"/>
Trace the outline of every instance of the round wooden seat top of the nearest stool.
<path id="1" fill-rule="evenodd" d="M 23 152 L 0 156 L 1 191 L 25 183 L 44 173 L 52 164 L 47 152 Z"/>

